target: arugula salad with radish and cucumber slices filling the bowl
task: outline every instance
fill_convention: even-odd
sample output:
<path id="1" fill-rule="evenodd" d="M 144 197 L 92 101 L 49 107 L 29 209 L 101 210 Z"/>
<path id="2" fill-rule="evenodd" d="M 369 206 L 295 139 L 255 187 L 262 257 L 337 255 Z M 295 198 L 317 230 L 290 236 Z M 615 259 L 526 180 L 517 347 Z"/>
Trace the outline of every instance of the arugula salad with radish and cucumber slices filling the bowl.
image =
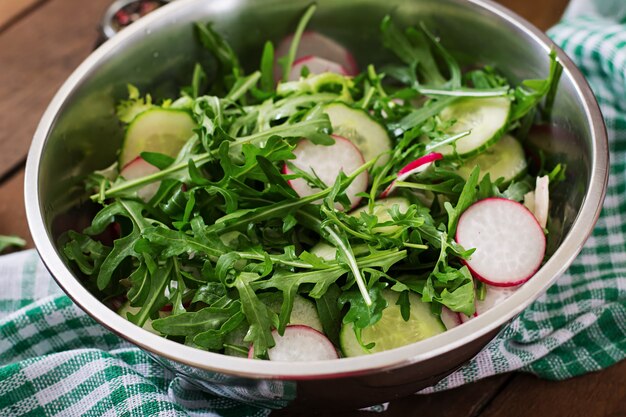
<path id="1" fill-rule="evenodd" d="M 361 66 L 305 31 L 314 11 L 252 72 L 197 25 L 214 61 L 190 86 L 119 103 L 119 159 L 86 180 L 99 211 L 59 245 L 136 325 L 235 356 L 358 356 L 461 325 L 542 264 L 564 167 L 522 143 L 549 117 L 555 54 L 512 86 L 385 17 L 395 58 Z"/>

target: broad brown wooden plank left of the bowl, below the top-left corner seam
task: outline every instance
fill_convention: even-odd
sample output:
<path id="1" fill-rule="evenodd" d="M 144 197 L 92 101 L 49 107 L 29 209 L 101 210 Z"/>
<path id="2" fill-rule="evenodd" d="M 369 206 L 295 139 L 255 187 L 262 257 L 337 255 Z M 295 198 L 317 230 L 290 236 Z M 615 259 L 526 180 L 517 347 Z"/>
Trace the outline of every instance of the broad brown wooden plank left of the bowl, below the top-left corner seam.
<path id="1" fill-rule="evenodd" d="M 25 158 L 52 96 L 91 52 L 110 1 L 49 1 L 0 35 L 0 177 Z"/>

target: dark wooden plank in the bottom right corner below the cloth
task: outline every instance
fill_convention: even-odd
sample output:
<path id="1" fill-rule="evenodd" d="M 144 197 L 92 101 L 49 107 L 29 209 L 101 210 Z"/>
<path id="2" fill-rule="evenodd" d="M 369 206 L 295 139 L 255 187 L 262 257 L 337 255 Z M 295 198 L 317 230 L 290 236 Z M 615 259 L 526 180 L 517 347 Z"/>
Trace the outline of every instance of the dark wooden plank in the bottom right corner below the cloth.
<path id="1" fill-rule="evenodd" d="M 518 374 L 481 417 L 626 416 L 626 362 L 566 381 Z"/>

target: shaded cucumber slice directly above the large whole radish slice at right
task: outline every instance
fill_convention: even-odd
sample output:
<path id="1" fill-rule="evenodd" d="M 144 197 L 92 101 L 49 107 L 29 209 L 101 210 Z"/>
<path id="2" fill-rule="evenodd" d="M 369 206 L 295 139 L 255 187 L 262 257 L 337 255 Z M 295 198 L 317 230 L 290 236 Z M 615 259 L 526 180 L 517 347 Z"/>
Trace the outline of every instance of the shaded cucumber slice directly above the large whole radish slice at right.
<path id="1" fill-rule="evenodd" d="M 519 178 L 528 168 L 524 148 L 511 135 L 505 135 L 484 152 L 468 159 L 458 169 L 458 174 L 466 181 L 475 166 L 480 168 L 480 179 L 486 174 L 492 181 L 504 178 L 504 184 Z"/>

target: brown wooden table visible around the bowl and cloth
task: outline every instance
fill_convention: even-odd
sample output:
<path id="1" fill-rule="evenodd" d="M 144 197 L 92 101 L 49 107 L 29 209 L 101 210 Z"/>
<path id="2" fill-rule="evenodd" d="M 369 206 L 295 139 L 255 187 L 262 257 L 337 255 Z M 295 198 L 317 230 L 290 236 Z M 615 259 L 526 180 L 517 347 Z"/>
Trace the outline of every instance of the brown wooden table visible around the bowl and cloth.
<path id="1" fill-rule="evenodd" d="M 98 21 L 110 2 L 0 0 L 0 234 L 25 237 L 29 246 L 22 185 L 31 137 L 55 91 L 92 50 Z M 500 2 L 541 29 L 555 23 L 567 4 L 567 0 Z M 626 361 L 561 382 L 523 373 L 500 375 L 444 393 L 395 401 L 383 415 L 618 417 L 626 416 L 625 400 Z"/>

